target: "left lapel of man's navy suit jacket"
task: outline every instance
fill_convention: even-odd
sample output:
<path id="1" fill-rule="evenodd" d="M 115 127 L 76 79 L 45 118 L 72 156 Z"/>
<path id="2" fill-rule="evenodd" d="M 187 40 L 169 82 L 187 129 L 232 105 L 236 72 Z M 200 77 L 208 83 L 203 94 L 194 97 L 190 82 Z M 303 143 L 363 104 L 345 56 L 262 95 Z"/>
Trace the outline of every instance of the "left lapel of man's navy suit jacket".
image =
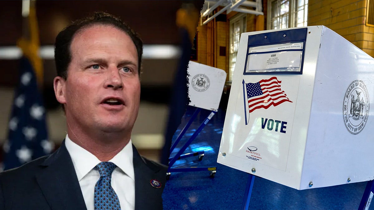
<path id="1" fill-rule="evenodd" d="M 43 169 L 36 175 L 36 179 L 53 210 L 86 209 L 73 162 L 65 147 L 65 141 L 41 166 Z"/>

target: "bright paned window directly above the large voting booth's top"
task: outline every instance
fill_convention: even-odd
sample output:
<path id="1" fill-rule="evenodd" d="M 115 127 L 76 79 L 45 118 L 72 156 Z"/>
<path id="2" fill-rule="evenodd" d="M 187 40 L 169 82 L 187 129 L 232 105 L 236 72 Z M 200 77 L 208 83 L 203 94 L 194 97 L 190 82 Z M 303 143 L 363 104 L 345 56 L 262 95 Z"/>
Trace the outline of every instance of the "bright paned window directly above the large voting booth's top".
<path id="1" fill-rule="evenodd" d="M 308 0 L 270 0 L 269 29 L 307 26 Z"/>

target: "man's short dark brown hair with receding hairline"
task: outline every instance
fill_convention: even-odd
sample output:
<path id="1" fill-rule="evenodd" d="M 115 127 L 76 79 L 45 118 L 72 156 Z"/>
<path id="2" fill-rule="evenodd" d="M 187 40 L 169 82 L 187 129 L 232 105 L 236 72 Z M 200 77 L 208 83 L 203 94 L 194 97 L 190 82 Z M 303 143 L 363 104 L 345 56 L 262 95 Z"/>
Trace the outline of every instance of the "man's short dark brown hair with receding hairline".
<path id="1" fill-rule="evenodd" d="M 130 36 L 131 40 L 135 44 L 135 47 L 137 48 L 139 67 L 138 71 L 140 73 L 141 57 L 143 54 L 143 42 L 140 39 L 139 35 L 116 16 L 110 15 L 105 12 L 95 12 L 91 16 L 74 21 L 71 25 L 66 27 L 57 35 L 55 42 L 55 64 L 57 75 L 64 78 L 64 80 L 67 79 L 67 69 L 71 62 L 70 45 L 74 35 L 76 35 L 82 29 L 95 24 L 111 25 L 118 28 L 119 30 L 124 31 Z"/>

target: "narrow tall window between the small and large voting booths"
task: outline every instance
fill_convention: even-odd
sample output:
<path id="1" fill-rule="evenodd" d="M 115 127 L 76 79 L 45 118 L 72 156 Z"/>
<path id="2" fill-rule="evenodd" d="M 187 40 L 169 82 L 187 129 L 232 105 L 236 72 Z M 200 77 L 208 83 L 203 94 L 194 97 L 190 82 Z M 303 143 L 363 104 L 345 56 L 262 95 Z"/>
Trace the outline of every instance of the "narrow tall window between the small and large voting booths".
<path id="1" fill-rule="evenodd" d="M 233 80 L 237 49 L 239 48 L 240 34 L 246 32 L 246 28 L 246 14 L 238 14 L 230 19 L 229 81 Z"/>

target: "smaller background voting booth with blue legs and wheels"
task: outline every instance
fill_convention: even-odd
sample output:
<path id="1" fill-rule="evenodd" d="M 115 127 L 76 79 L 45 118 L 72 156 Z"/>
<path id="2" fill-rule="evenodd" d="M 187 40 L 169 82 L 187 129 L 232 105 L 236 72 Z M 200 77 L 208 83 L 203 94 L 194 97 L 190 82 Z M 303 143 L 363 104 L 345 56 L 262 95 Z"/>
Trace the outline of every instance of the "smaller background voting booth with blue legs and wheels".
<path id="1" fill-rule="evenodd" d="M 183 154 L 191 142 L 199 135 L 200 131 L 211 120 L 213 115 L 217 113 L 220 104 L 223 86 L 226 80 L 226 72 L 224 70 L 210 67 L 207 65 L 199 64 L 190 61 L 188 64 L 189 86 L 188 94 L 190 97 L 190 106 L 196 107 L 196 111 L 187 122 L 186 126 L 181 130 L 175 142 L 172 144 L 170 153 L 175 149 L 180 142 L 188 128 L 202 109 L 211 110 L 211 113 L 200 124 L 199 128 L 187 140 L 187 142 L 180 148 L 174 157 L 169 158 L 169 169 L 166 179 L 169 179 L 171 172 L 196 172 L 196 171 L 209 171 L 211 177 L 215 176 L 216 166 L 208 167 L 172 167 L 177 160 L 191 156 L 198 156 L 199 160 L 203 159 L 204 151 L 192 152 Z"/>

